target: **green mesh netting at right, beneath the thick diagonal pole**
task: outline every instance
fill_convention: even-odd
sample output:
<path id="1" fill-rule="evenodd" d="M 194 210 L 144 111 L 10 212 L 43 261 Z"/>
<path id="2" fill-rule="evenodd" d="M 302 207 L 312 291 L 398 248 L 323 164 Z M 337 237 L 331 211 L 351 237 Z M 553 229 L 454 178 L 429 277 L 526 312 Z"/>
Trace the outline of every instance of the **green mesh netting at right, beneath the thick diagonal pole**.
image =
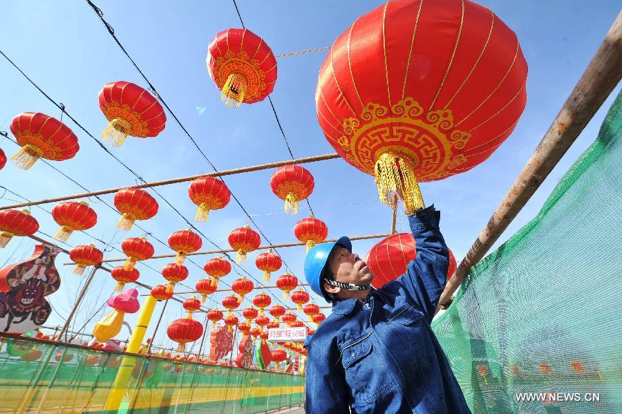
<path id="1" fill-rule="evenodd" d="M 622 413 L 621 129 L 622 94 L 538 216 L 434 321 L 473 412 Z"/>

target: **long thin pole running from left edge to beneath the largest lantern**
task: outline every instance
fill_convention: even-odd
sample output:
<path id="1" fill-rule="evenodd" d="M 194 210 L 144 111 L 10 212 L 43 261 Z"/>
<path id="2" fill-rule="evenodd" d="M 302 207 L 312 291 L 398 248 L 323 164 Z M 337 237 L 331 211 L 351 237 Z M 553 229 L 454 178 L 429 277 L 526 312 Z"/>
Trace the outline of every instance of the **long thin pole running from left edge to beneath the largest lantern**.
<path id="1" fill-rule="evenodd" d="M 124 187 L 117 187 L 117 188 L 100 190 L 100 191 L 89 191 L 88 193 L 72 194 L 70 196 L 46 198 L 44 200 L 29 201 L 28 203 L 19 203 L 19 204 L 14 204 L 14 205 L 6 205 L 6 206 L 3 206 L 3 207 L 0 207 L 0 211 L 1 210 L 6 210 L 6 209 L 18 209 L 18 208 L 21 208 L 21 207 L 29 207 L 29 206 L 32 206 L 32 205 L 41 205 L 41 204 L 47 204 L 47 203 L 55 203 L 57 201 L 75 200 L 76 198 L 86 198 L 86 197 L 92 197 L 92 196 L 102 196 L 103 194 L 116 193 L 119 190 L 126 189 L 126 188 L 129 188 L 129 187 L 131 187 L 131 188 L 138 188 L 138 189 L 140 189 L 140 188 L 147 188 L 147 187 L 159 187 L 160 185 L 177 184 L 178 182 L 187 182 L 187 181 L 195 180 L 196 178 L 201 178 L 201 177 L 232 176 L 234 174 L 241 174 L 241 173 L 248 173 L 248 172 L 252 172 L 252 171 L 261 171 L 263 169 L 272 169 L 272 168 L 283 167 L 283 165 L 306 164 L 308 162 L 332 160 L 334 158 L 339 158 L 339 154 L 337 154 L 337 153 L 330 153 L 330 154 L 323 154 L 321 156 L 298 158 L 296 160 L 285 160 L 285 161 L 278 161 L 278 162 L 268 162 L 267 164 L 259 164 L 259 165 L 253 165 L 251 167 L 241 167 L 241 168 L 235 168 L 235 169 L 227 169 L 225 171 L 216 171 L 214 173 L 198 174 L 196 176 L 171 178 L 169 180 L 147 182 L 146 184 L 131 184 L 131 185 L 126 185 Z"/>

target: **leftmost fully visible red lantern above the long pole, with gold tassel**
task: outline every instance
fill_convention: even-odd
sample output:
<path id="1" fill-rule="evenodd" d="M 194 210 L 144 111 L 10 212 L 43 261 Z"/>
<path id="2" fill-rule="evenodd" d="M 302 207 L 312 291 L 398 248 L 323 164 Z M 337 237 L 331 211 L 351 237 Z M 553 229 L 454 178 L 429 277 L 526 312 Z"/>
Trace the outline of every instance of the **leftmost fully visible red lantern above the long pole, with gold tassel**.
<path id="1" fill-rule="evenodd" d="M 80 149 L 75 133 L 44 113 L 20 113 L 11 122 L 11 132 L 21 147 L 11 160 L 21 169 L 29 169 L 39 158 L 69 160 Z"/>

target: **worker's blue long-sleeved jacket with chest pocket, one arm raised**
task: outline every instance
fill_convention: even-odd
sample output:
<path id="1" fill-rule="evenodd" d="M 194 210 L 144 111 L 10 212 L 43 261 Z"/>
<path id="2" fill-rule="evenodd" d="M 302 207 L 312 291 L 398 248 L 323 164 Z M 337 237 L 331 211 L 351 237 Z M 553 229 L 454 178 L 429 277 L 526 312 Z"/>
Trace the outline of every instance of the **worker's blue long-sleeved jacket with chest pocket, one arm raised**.
<path id="1" fill-rule="evenodd" d="M 449 267 L 439 220 L 434 206 L 408 217 L 417 258 L 406 274 L 368 302 L 333 303 L 308 348 L 307 413 L 470 413 L 430 326 Z"/>

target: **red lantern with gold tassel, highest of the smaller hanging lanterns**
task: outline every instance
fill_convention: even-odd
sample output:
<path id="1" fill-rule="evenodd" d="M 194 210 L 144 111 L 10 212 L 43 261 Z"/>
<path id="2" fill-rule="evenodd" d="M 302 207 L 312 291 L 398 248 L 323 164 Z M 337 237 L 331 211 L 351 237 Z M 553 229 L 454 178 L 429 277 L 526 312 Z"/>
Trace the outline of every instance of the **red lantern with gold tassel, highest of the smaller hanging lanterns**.
<path id="1" fill-rule="evenodd" d="M 276 59 L 269 46 L 247 29 L 227 29 L 207 46 L 207 71 L 225 105 L 263 101 L 276 82 Z"/>

